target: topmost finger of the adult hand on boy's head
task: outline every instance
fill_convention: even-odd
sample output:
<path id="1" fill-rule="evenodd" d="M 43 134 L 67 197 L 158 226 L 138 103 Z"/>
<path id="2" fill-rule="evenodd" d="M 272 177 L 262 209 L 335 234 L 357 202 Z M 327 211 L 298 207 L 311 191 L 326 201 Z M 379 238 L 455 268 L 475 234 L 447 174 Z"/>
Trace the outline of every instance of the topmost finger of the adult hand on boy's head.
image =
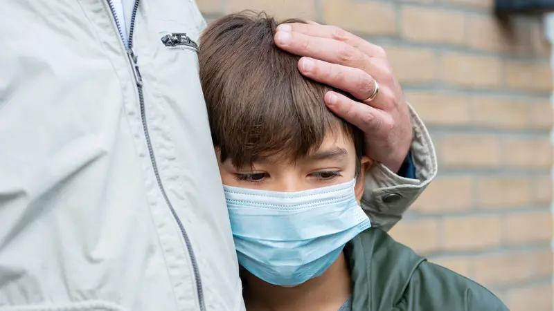
<path id="1" fill-rule="evenodd" d="M 320 25 L 314 23 L 284 23 L 277 27 L 277 31 L 298 32 L 312 37 L 320 37 L 343 41 L 350 46 L 358 48 L 362 53 L 373 57 L 385 57 L 384 49 L 375 44 L 361 39 L 357 35 L 343 30 L 337 26 Z"/>

